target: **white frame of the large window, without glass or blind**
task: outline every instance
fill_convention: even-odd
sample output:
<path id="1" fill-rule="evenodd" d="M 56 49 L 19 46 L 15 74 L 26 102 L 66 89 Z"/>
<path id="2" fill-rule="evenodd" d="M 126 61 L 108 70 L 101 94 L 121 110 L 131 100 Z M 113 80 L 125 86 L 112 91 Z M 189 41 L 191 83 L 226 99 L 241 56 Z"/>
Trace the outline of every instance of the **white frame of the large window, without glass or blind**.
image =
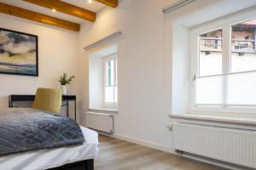
<path id="1" fill-rule="evenodd" d="M 222 74 L 231 73 L 231 51 L 232 51 L 232 27 L 247 20 L 255 20 L 256 14 L 252 11 L 241 11 L 237 14 L 224 16 L 218 20 L 213 20 L 200 26 L 192 27 L 189 31 L 189 58 L 190 58 L 190 88 L 189 103 L 191 113 L 242 113 L 255 114 L 255 106 L 227 106 L 227 105 L 196 105 L 195 104 L 195 77 L 199 76 L 199 36 L 209 31 L 223 30 L 223 54 L 222 54 Z"/>

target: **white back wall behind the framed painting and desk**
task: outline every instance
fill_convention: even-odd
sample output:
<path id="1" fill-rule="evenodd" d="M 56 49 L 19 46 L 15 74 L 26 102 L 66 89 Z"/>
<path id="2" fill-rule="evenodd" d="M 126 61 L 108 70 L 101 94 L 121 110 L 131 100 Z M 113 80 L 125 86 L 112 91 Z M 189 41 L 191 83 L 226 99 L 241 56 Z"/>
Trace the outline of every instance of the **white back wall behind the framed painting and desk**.
<path id="1" fill-rule="evenodd" d="M 0 14 L 3 28 L 38 35 L 39 77 L 0 74 L 0 109 L 8 107 L 9 94 L 35 94 L 38 87 L 57 88 L 63 71 L 78 77 L 78 33 Z M 78 93 L 78 78 L 68 94 Z"/>

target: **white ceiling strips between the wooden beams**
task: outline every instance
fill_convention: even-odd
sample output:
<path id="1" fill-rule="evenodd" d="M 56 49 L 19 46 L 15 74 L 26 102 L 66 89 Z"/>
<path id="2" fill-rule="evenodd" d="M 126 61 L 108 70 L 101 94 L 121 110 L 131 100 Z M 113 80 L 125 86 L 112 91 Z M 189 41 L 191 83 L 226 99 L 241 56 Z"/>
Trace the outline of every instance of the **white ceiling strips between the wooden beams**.
<path id="1" fill-rule="evenodd" d="M 98 3 L 96 1 L 93 1 L 92 3 L 87 3 L 87 0 L 61 0 L 63 2 L 66 3 L 71 3 L 73 5 L 79 6 L 81 8 L 86 8 L 89 9 L 91 11 L 94 12 L 99 12 L 100 10 L 102 10 L 102 8 L 106 7 L 104 4 L 102 3 Z M 28 10 L 32 10 L 41 14 L 47 14 L 56 18 L 60 18 L 62 20 L 69 20 L 69 21 L 73 21 L 75 23 L 78 24 L 82 24 L 82 23 L 90 23 L 89 21 L 86 20 L 82 20 L 79 19 L 77 17 L 73 17 L 71 15 L 68 14 L 63 14 L 60 12 L 52 12 L 49 8 L 44 8 L 44 7 L 40 7 L 38 5 L 34 5 L 32 3 L 26 3 L 24 1 L 21 0 L 0 0 L 0 2 L 2 3 L 8 3 L 10 5 L 14 5 L 16 7 L 20 7 L 20 8 L 26 8 Z"/>

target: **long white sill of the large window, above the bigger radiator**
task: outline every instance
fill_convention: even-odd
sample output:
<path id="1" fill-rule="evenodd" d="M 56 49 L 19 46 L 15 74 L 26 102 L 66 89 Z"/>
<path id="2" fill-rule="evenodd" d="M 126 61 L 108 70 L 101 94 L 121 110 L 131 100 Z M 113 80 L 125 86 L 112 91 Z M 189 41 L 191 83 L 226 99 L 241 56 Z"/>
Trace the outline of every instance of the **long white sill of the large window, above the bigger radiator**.
<path id="1" fill-rule="evenodd" d="M 195 121 L 208 121 L 208 122 L 226 122 L 226 123 L 236 123 L 236 124 L 247 124 L 256 125 L 256 116 L 228 116 L 219 114 L 171 114 L 170 118 L 195 120 Z"/>

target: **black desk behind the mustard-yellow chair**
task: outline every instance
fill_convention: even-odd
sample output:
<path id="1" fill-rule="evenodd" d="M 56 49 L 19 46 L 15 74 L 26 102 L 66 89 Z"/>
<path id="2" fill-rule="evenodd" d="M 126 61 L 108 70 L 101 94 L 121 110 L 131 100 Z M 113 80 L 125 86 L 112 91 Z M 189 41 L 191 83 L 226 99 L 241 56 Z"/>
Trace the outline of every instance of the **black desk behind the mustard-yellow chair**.
<path id="1" fill-rule="evenodd" d="M 35 95 L 22 95 L 22 94 L 11 94 L 9 95 L 9 108 L 15 107 L 14 101 L 34 101 Z M 75 117 L 77 120 L 77 97 L 76 95 L 62 95 L 62 101 L 67 101 L 67 116 L 68 116 L 68 102 L 74 101 Z M 64 105 L 61 105 L 64 106 Z"/>

